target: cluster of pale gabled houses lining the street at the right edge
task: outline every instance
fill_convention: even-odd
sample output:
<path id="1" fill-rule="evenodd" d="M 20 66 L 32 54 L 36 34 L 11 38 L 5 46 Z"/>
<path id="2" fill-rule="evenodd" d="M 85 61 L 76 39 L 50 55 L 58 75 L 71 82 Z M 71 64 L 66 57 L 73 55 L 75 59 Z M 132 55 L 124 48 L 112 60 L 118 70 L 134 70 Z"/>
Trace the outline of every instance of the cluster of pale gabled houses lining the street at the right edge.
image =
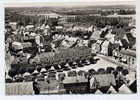
<path id="1" fill-rule="evenodd" d="M 96 40 L 92 44 L 92 52 L 113 56 L 120 62 L 136 67 L 136 28 L 131 27 L 128 32 L 108 28 L 106 33 L 103 32 L 105 30 L 97 29 L 92 33 L 90 39 Z"/>

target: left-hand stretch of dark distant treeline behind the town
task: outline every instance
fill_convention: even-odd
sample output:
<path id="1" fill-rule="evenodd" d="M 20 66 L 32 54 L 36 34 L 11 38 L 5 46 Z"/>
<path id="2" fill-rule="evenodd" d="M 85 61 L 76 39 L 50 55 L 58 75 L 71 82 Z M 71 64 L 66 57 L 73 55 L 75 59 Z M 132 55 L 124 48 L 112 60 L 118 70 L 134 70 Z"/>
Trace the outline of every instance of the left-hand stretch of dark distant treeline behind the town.
<path id="1" fill-rule="evenodd" d="M 11 22 L 17 22 L 18 25 L 29 25 L 33 24 L 35 26 L 42 25 L 42 24 L 49 24 L 50 26 L 58 25 L 58 19 L 56 18 L 49 18 L 46 19 L 45 16 L 31 16 L 31 15 L 20 15 L 20 14 L 6 14 L 5 20 Z"/>

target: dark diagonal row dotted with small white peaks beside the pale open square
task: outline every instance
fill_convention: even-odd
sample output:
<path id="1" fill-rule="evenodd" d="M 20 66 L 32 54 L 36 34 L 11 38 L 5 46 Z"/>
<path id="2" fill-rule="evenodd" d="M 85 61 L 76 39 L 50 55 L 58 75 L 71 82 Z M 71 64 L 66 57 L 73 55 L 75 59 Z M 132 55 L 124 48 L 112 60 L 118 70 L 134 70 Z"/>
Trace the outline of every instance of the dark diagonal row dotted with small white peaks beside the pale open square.
<path id="1" fill-rule="evenodd" d="M 39 73 L 47 73 L 47 75 L 55 75 L 56 73 L 69 71 L 71 69 L 76 69 L 78 67 L 84 67 L 86 65 L 95 64 L 98 59 L 94 59 L 94 57 L 90 57 L 89 59 L 77 59 L 76 61 L 70 61 L 67 60 L 67 62 L 61 62 L 60 64 L 53 64 L 53 65 L 45 65 L 42 66 L 41 64 L 34 63 L 33 66 L 21 66 L 18 70 L 10 70 L 8 72 L 8 75 L 14 79 L 17 77 L 26 77 L 25 80 L 28 81 L 29 76 L 31 76 L 31 79 L 34 76 L 38 76 Z M 19 67 L 19 66 L 18 66 Z M 43 74 L 45 75 L 45 74 Z"/>

